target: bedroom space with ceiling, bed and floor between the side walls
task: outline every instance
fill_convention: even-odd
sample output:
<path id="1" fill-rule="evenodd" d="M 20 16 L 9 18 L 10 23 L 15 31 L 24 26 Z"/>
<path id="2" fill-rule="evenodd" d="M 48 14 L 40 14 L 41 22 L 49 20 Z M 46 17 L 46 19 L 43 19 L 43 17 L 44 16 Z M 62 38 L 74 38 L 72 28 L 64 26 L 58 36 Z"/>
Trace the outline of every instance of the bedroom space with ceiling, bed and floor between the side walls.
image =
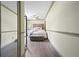
<path id="1" fill-rule="evenodd" d="M 46 17 L 50 6 L 53 5 L 53 3 L 54 2 L 52 1 L 25 2 L 27 15 L 27 57 L 60 56 L 51 45 L 46 31 Z"/>

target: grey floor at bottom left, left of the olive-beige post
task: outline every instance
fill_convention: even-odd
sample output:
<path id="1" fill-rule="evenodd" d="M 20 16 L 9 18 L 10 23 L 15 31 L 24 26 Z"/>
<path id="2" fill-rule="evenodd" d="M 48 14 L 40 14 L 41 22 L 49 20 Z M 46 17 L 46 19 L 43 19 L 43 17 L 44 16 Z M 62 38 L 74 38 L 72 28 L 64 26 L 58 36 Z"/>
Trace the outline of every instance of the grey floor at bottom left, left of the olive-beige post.
<path id="1" fill-rule="evenodd" d="M 17 42 L 1 48 L 1 57 L 17 57 Z"/>

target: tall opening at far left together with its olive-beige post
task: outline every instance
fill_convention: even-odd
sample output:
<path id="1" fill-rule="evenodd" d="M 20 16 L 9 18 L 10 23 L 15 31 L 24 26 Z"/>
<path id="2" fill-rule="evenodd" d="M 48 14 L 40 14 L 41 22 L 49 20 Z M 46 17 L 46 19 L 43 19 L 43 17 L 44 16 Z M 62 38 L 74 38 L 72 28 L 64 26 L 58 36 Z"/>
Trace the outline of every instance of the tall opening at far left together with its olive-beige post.
<path id="1" fill-rule="evenodd" d="M 24 55 L 24 2 L 0 2 L 0 56 Z"/>

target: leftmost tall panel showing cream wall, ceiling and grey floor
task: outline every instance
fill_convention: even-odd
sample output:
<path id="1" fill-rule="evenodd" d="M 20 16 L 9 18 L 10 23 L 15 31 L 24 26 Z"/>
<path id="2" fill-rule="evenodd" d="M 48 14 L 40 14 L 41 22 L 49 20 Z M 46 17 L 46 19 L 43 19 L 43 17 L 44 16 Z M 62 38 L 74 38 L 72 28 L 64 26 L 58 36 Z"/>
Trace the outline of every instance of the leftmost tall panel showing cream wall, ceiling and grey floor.
<path id="1" fill-rule="evenodd" d="M 1 57 L 17 56 L 17 1 L 1 1 Z"/>

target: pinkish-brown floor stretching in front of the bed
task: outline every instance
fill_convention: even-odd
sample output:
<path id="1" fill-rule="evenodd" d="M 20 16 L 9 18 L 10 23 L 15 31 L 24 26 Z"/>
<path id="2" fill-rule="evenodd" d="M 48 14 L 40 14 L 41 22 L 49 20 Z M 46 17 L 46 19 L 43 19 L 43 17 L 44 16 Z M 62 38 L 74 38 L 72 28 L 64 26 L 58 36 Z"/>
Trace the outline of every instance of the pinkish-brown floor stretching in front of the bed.
<path id="1" fill-rule="evenodd" d="M 27 37 L 27 48 L 26 57 L 60 57 L 49 40 L 31 41 Z"/>

